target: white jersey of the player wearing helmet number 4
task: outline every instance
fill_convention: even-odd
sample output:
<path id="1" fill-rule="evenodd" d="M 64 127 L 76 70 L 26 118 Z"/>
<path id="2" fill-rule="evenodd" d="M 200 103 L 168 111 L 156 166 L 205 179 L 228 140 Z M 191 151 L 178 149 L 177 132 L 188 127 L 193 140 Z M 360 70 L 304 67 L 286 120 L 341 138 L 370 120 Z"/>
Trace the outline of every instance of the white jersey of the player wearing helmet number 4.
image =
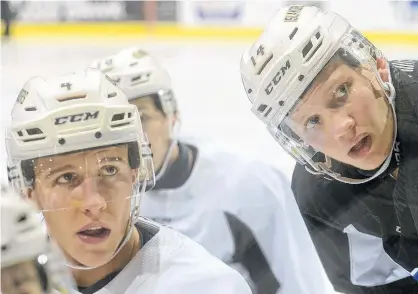
<path id="1" fill-rule="evenodd" d="M 201 245 L 153 221 L 136 228 L 150 239 L 130 263 L 96 294 L 250 294 L 245 279 Z M 94 287 L 94 286 L 93 286 Z M 76 290 L 74 293 L 81 293 Z"/>

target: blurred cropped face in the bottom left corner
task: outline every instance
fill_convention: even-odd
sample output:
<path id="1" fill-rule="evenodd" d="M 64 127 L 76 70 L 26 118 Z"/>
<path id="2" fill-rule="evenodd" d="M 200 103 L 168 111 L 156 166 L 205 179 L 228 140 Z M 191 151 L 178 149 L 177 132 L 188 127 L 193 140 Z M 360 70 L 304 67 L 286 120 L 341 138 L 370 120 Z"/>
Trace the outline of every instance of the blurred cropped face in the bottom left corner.
<path id="1" fill-rule="evenodd" d="M 33 261 L 1 269 L 2 294 L 42 294 L 40 276 Z"/>

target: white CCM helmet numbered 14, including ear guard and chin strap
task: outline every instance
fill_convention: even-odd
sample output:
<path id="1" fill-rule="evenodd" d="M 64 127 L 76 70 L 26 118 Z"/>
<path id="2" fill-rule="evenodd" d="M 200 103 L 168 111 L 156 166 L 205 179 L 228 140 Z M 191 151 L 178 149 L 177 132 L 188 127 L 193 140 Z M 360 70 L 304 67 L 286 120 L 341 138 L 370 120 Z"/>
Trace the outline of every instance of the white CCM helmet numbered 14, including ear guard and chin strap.
<path id="1" fill-rule="evenodd" d="M 263 34 L 243 53 L 242 82 L 252 112 L 308 171 L 342 182 L 363 183 L 383 172 L 389 159 L 368 179 L 347 178 L 331 169 L 328 156 L 325 162 L 313 160 L 317 151 L 292 132 L 288 121 L 304 92 L 337 54 L 350 66 L 372 72 L 373 87 L 387 89 L 376 69 L 381 52 L 338 14 L 303 5 L 278 10 Z"/>

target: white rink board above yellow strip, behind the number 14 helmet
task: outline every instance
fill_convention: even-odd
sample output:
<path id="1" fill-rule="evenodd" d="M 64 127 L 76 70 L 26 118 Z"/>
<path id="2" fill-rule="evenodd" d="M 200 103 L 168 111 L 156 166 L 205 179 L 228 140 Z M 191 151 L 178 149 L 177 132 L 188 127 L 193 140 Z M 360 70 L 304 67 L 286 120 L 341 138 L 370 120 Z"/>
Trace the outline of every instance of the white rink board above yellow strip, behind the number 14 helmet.
<path id="1" fill-rule="evenodd" d="M 418 5 L 412 0 L 184 1 L 180 21 L 187 26 L 263 27 L 274 11 L 289 3 L 319 5 L 341 14 L 360 30 L 418 33 Z M 415 1 L 416 2 L 416 1 Z"/>

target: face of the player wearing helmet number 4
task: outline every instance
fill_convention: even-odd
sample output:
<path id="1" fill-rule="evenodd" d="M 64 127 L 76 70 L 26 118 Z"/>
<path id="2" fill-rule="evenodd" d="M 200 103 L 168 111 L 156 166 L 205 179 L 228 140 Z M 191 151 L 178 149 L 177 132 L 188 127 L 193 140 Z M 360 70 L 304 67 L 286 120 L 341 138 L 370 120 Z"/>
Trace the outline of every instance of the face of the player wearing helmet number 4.
<path id="1" fill-rule="evenodd" d="M 136 172 L 127 146 L 44 157 L 34 169 L 30 197 L 44 210 L 48 233 L 67 257 L 86 266 L 109 260 L 130 216 Z"/>

